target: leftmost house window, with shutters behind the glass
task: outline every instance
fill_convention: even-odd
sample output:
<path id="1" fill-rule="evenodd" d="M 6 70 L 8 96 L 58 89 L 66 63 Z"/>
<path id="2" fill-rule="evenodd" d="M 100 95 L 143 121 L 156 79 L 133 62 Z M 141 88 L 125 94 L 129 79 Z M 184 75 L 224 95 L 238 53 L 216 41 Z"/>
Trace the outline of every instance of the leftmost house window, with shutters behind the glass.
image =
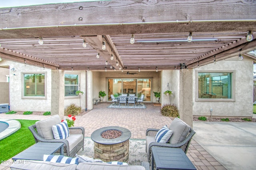
<path id="1" fill-rule="evenodd" d="M 22 73 L 22 98 L 46 99 L 46 72 Z"/>

